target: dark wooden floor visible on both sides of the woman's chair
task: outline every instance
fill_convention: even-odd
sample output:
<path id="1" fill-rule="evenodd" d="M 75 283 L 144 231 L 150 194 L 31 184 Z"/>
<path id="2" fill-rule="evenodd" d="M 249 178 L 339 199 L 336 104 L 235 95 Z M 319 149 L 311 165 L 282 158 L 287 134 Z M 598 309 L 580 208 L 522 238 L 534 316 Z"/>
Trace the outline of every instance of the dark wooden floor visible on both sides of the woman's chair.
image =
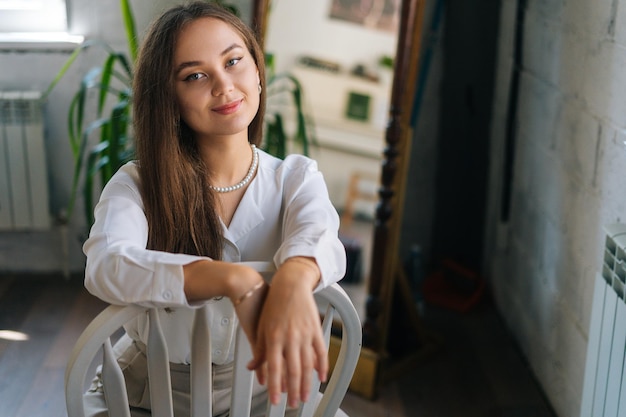
<path id="1" fill-rule="evenodd" d="M 104 307 L 80 278 L 0 276 L 0 416 L 65 417 L 69 352 Z M 349 394 L 352 417 L 554 417 L 506 328 L 487 301 L 471 313 L 428 307 L 442 348 L 381 388 Z M 13 333 L 16 332 L 16 333 Z M 26 340 L 11 340 L 19 336 Z"/>

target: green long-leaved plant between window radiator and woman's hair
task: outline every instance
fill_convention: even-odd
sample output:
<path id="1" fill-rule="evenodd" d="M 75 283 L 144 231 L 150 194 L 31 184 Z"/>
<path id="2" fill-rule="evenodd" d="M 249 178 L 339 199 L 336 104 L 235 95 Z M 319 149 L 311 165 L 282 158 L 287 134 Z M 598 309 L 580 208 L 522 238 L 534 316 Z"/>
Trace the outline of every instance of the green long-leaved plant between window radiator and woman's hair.
<path id="1" fill-rule="evenodd" d="M 120 0 L 120 7 L 130 56 L 114 50 L 101 40 L 87 40 L 73 51 L 43 95 L 45 99 L 84 51 L 101 48 L 105 52 L 102 65 L 92 68 L 81 79 L 68 109 L 68 141 L 74 159 L 68 217 L 73 212 L 82 181 L 84 214 L 88 225 L 93 223 L 96 181 L 104 186 L 133 156 L 131 80 L 138 45 L 129 1 Z M 88 95 L 94 90 L 97 93 L 95 103 L 89 100 Z M 89 111 L 95 111 L 94 120 L 87 119 Z M 91 140 L 94 136 L 98 136 L 95 144 Z"/>

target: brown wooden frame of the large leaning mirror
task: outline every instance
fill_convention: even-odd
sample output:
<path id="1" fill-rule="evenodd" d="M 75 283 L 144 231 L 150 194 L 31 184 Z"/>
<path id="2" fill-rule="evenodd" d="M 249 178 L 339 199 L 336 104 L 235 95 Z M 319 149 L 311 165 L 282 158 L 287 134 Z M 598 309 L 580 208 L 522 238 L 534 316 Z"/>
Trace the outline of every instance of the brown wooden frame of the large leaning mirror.
<path id="1" fill-rule="evenodd" d="M 271 0 L 252 0 L 252 26 L 263 45 Z M 393 82 L 381 155 L 379 203 L 376 209 L 370 276 L 363 323 L 363 350 L 351 390 L 374 398 L 377 387 L 395 377 L 432 349 L 433 343 L 420 323 L 408 280 L 398 260 L 406 175 L 413 137 L 411 113 L 417 86 L 426 0 L 401 0 L 400 25 L 394 60 Z M 397 311 L 398 304 L 404 308 Z M 394 308 L 392 308 L 394 307 Z M 411 354 L 394 357 L 389 346 L 394 340 L 405 343 L 407 334 L 392 326 L 392 320 L 406 320 L 414 331 L 416 346 Z M 394 331 L 389 329 L 393 328 Z M 385 366 L 381 366 L 384 364 Z"/>

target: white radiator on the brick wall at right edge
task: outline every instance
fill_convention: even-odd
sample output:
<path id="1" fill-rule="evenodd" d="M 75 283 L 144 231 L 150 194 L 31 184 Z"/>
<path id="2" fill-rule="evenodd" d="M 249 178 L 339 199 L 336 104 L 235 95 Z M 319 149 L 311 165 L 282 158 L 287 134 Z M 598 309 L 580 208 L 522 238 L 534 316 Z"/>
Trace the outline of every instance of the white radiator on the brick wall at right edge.
<path id="1" fill-rule="evenodd" d="M 626 224 L 605 226 L 596 276 L 580 417 L 626 416 Z"/>

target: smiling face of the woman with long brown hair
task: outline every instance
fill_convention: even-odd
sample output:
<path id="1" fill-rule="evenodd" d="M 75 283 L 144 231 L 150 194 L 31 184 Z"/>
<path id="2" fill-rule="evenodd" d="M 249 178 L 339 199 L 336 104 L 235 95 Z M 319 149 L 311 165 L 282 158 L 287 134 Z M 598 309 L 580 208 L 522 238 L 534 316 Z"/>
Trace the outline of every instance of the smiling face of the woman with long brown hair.
<path id="1" fill-rule="evenodd" d="M 197 139 L 243 134 L 259 108 L 259 73 L 238 32 L 210 17 L 189 23 L 174 50 L 181 118 Z"/>

